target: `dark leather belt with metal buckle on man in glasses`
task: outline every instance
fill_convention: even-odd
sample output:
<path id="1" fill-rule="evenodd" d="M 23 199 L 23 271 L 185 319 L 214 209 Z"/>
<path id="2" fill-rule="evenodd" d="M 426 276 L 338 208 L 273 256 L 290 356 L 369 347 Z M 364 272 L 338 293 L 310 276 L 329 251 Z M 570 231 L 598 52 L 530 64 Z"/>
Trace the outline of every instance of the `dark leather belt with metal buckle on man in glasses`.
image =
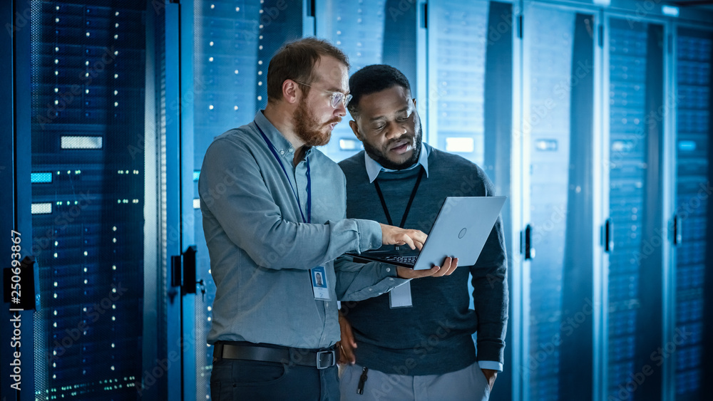
<path id="1" fill-rule="evenodd" d="M 317 369 L 331 368 L 339 360 L 337 348 L 329 350 L 310 350 L 306 348 L 271 348 L 260 345 L 232 345 L 215 343 L 213 345 L 213 360 L 242 359 L 262 360 L 264 362 L 282 363 L 285 365 L 312 366 Z"/>

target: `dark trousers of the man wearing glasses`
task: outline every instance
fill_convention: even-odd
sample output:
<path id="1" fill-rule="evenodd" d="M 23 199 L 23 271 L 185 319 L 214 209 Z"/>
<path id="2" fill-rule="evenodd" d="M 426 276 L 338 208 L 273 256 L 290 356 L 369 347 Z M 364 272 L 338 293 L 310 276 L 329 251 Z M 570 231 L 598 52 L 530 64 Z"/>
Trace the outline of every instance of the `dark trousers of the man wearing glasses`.
<path id="1" fill-rule="evenodd" d="M 257 360 L 216 360 L 210 374 L 210 398 L 339 401 L 337 366 L 317 369 Z"/>

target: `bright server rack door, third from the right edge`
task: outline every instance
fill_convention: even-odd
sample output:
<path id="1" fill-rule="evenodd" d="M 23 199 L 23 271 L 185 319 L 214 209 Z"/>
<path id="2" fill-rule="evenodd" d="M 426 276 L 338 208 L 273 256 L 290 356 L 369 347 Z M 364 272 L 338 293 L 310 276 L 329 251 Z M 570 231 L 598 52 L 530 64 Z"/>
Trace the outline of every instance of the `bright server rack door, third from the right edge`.
<path id="1" fill-rule="evenodd" d="M 525 9 L 525 207 L 536 251 L 523 279 L 525 400 L 593 394 L 595 26 L 592 14 Z"/>

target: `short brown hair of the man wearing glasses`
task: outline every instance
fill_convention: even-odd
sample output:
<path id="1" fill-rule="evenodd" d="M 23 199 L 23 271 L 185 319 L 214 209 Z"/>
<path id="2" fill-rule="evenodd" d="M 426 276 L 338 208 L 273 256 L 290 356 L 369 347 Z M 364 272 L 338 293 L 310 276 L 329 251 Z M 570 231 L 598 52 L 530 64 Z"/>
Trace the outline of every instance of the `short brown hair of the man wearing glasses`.
<path id="1" fill-rule="evenodd" d="M 334 57 L 349 68 L 347 55 L 328 41 L 302 38 L 282 45 L 267 66 L 267 102 L 282 99 L 282 83 L 285 80 L 312 83 L 314 64 L 320 56 Z M 309 87 L 304 88 L 304 92 L 309 93 Z"/>

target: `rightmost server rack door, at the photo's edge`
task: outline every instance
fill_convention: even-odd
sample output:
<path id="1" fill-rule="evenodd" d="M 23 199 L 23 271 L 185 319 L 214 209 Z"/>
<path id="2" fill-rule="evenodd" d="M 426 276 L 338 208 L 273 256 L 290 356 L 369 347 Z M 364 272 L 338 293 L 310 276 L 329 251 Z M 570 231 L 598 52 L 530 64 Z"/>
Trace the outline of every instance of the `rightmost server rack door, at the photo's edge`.
<path id="1" fill-rule="evenodd" d="M 676 199 L 673 237 L 676 345 L 674 390 L 676 400 L 703 400 L 705 327 L 710 323 L 711 234 L 709 197 L 711 177 L 711 31 L 679 28 L 674 58 L 676 105 Z M 708 286 L 708 287 L 706 287 Z M 708 309 L 708 311 L 710 311 Z M 707 316 L 707 317 L 706 317 Z M 710 335 L 710 332 L 707 333 Z M 708 337 L 709 338 L 709 337 Z"/>

